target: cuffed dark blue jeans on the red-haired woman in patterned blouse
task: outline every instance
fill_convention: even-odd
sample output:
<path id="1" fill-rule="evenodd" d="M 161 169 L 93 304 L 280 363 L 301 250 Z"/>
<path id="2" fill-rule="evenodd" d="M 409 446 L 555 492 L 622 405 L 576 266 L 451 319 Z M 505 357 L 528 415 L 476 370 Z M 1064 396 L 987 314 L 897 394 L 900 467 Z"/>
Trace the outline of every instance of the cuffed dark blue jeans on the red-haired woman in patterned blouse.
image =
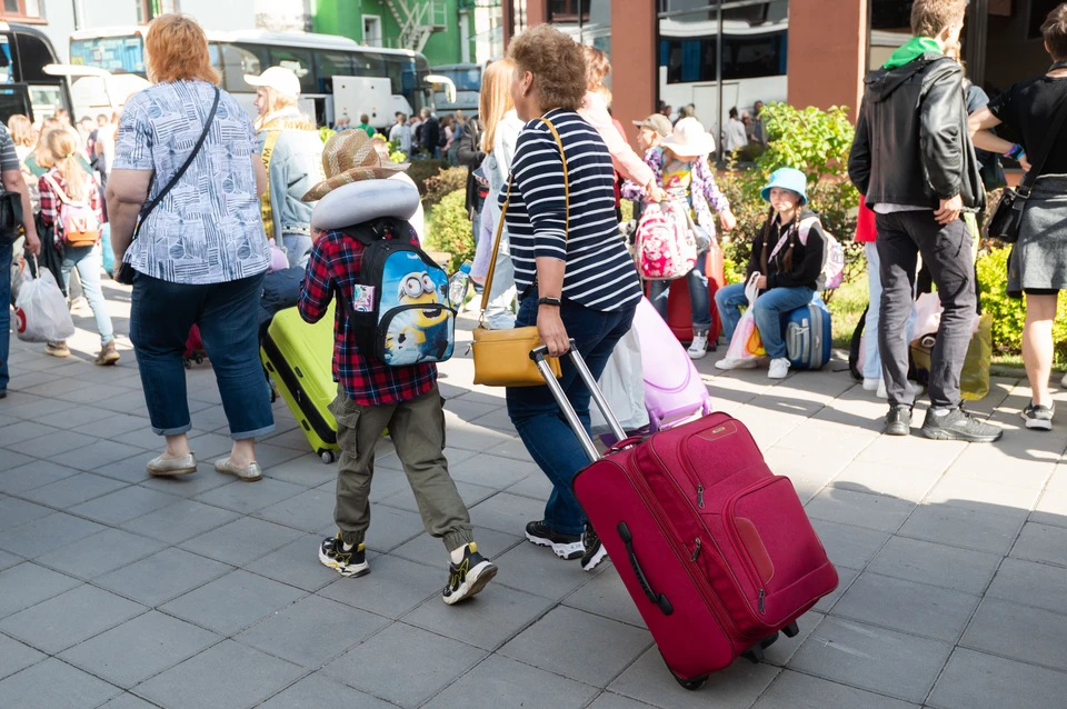
<path id="1" fill-rule="evenodd" d="M 259 360 L 259 299 L 263 276 L 189 286 L 136 273 L 130 340 L 137 353 L 152 430 L 177 436 L 192 428 L 182 354 L 193 324 L 200 326 L 230 425 L 230 438 L 275 430 L 270 390 Z"/>

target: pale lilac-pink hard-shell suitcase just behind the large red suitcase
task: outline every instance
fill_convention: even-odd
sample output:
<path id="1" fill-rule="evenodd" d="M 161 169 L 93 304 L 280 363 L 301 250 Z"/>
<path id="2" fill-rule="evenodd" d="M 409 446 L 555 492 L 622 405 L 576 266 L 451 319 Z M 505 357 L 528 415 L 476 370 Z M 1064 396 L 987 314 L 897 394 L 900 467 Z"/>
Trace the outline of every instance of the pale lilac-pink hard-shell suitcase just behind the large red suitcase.
<path id="1" fill-rule="evenodd" d="M 632 327 L 641 341 L 649 430 L 658 431 L 711 413 L 711 397 L 700 373 L 647 298 L 637 304 Z"/>

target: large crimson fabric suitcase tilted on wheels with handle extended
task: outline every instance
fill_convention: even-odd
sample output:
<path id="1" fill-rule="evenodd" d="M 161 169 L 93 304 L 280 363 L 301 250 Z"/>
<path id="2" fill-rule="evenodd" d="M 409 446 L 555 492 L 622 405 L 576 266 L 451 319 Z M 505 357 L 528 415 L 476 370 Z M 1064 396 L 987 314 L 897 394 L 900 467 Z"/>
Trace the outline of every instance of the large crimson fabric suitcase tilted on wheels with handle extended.
<path id="1" fill-rule="evenodd" d="M 550 375 L 531 353 L 590 465 L 575 496 L 637 603 L 675 679 L 698 689 L 738 657 L 754 662 L 837 588 L 837 570 L 789 478 L 774 475 L 748 429 L 725 413 L 622 439 L 571 347 L 592 400 L 620 442 L 601 458 Z"/>

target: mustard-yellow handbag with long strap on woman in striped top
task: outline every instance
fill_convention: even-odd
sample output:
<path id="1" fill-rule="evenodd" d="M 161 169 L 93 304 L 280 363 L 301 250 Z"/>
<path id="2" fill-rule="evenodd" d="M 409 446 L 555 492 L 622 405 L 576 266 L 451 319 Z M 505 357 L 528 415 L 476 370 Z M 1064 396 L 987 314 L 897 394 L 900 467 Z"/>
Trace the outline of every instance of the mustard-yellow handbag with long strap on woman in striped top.
<path id="1" fill-rule="evenodd" d="M 564 233 L 570 227 L 570 186 L 567 180 L 567 157 L 564 153 L 564 142 L 559 139 L 556 127 L 547 118 L 539 119 L 552 131 L 552 138 L 559 146 L 559 157 L 564 161 L 564 199 L 566 202 L 566 223 Z M 492 242 L 492 256 L 489 257 L 489 272 L 486 273 L 486 283 L 481 292 L 481 317 L 472 336 L 471 352 L 475 358 L 475 383 L 487 387 L 540 387 L 545 379 L 537 369 L 537 363 L 530 358 L 530 352 L 542 344 L 536 326 L 512 328 L 510 330 L 490 330 L 485 327 L 486 308 L 489 307 L 489 293 L 492 292 L 492 277 L 497 266 L 497 254 L 500 252 L 500 237 L 503 234 L 503 218 L 511 203 L 511 186 L 513 178 L 508 180 L 508 191 L 497 222 L 497 237 Z M 559 359 L 551 357 L 546 360 L 552 375 L 557 379 L 562 375 Z"/>

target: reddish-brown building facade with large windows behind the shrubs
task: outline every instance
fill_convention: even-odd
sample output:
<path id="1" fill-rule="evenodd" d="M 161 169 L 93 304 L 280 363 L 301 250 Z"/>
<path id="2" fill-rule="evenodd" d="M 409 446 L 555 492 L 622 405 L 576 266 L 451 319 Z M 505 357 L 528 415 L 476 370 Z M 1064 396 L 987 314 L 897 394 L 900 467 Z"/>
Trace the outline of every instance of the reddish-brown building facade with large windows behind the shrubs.
<path id="1" fill-rule="evenodd" d="M 1061 0 L 970 0 L 970 80 L 990 97 L 1045 72 L 1040 24 Z M 910 0 L 503 0 L 505 34 L 554 22 L 608 52 L 614 112 L 627 124 L 692 104 L 718 132 L 759 100 L 849 107 L 862 80 L 910 37 Z M 625 21 L 622 21 L 625 18 Z M 614 21 L 612 21 L 614 20 Z"/>

